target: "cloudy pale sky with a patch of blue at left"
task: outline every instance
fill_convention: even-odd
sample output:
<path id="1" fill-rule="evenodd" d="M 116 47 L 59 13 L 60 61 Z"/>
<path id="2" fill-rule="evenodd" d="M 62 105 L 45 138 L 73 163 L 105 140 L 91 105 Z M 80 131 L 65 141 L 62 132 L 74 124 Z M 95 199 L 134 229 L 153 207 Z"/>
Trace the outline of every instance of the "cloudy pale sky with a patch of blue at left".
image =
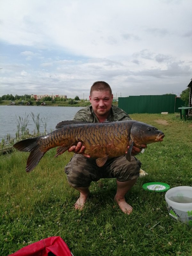
<path id="1" fill-rule="evenodd" d="M 179 95 L 192 78 L 191 0 L 0 2 L 0 96 Z"/>

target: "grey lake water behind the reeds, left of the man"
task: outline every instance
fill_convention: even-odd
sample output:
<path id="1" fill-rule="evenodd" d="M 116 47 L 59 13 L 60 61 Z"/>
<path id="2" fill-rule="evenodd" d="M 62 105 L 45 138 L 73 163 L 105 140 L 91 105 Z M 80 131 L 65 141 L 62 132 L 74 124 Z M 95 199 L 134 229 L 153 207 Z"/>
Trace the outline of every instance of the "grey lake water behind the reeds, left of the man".
<path id="1" fill-rule="evenodd" d="M 64 120 L 72 120 L 76 112 L 82 107 L 48 107 L 48 106 L 0 106 L 0 141 L 10 134 L 15 138 L 19 117 L 27 118 L 30 132 L 36 128 L 31 117 L 31 112 L 39 118 L 43 123 L 47 123 L 46 130 L 51 132 L 55 130 L 55 126 Z M 27 117 L 28 116 L 28 117 Z M 45 120 L 44 120 L 45 118 Z M 44 132 L 44 125 L 41 124 L 40 132 Z"/>

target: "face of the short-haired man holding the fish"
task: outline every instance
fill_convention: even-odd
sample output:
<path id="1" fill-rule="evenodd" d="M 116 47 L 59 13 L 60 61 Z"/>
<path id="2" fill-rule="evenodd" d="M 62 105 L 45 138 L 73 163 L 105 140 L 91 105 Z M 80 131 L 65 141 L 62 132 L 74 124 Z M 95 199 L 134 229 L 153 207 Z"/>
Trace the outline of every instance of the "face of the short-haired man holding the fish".
<path id="1" fill-rule="evenodd" d="M 108 115 L 113 102 L 113 94 L 109 91 L 93 91 L 89 96 L 93 111 L 97 116 Z"/>

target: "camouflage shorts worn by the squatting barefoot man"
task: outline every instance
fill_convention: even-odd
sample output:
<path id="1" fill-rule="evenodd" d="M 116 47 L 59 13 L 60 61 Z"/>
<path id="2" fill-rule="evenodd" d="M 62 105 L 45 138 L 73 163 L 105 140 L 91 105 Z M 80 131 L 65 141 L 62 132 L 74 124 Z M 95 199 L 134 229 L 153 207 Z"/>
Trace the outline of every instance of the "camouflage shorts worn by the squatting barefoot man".
<path id="1" fill-rule="evenodd" d="M 65 173 L 71 186 L 88 187 L 92 181 L 101 178 L 116 178 L 118 181 L 137 179 L 140 167 L 140 161 L 134 156 L 131 162 L 126 156 L 109 158 L 102 167 L 98 167 L 95 159 L 75 154 L 65 166 Z"/>

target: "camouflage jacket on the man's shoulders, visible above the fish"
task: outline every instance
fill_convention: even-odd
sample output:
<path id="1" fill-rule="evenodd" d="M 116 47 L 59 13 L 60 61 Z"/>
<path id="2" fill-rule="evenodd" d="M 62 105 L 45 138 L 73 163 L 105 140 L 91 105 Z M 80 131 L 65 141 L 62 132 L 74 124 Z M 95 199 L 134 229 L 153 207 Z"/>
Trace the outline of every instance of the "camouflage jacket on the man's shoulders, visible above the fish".
<path id="1" fill-rule="evenodd" d="M 99 123 L 99 120 L 98 120 L 97 116 L 95 115 L 91 105 L 88 108 L 80 109 L 75 114 L 73 120 L 79 121 L 79 122 L 84 121 L 84 122 L 90 122 L 90 123 Z M 131 118 L 121 108 L 118 108 L 118 107 L 112 105 L 111 111 L 110 111 L 106 121 L 115 122 L 115 121 L 123 121 L 123 120 L 131 120 Z"/>

